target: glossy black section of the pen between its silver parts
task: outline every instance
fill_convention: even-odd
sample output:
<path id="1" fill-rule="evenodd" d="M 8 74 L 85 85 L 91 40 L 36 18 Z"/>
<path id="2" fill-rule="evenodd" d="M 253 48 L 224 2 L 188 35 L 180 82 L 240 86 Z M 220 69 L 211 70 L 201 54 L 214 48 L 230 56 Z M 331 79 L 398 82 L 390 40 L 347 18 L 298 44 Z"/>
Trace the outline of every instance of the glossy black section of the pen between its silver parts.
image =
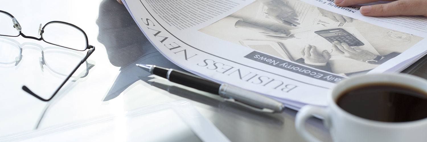
<path id="1" fill-rule="evenodd" d="M 187 87 L 213 94 L 218 94 L 218 88 L 221 86 L 219 83 L 177 70 L 170 70 L 167 74 L 167 79 Z"/>

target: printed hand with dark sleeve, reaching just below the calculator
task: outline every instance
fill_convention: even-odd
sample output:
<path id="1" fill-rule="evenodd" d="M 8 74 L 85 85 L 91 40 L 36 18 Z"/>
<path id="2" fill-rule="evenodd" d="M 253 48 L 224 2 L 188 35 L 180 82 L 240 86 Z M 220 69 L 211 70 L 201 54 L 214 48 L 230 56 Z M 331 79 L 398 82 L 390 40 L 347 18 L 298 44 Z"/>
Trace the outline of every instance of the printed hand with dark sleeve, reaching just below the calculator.
<path id="1" fill-rule="evenodd" d="M 377 55 L 368 50 L 360 49 L 359 47 L 351 48 L 347 43 L 344 42 L 340 43 L 335 41 L 334 43 L 335 44 L 332 46 L 333 49 L 335 49 L 338 54 L 344 57 L 363 62 L 377 58 Z"/>

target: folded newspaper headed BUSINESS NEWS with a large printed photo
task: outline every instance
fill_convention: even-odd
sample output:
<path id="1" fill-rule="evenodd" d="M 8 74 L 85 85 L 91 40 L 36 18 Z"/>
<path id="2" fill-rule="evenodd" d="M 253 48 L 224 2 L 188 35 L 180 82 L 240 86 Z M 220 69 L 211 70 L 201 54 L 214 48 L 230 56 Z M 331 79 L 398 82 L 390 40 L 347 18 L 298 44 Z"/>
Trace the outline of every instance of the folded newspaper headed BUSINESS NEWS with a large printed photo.
<path id="1" fill-rule="evenodd" d="M 333 0 L 123 2 L 173 63 L 295 109 L 325 106 L 342 79 L 401 71 L 427 50 L 426 17 L 365 17 Z"/>

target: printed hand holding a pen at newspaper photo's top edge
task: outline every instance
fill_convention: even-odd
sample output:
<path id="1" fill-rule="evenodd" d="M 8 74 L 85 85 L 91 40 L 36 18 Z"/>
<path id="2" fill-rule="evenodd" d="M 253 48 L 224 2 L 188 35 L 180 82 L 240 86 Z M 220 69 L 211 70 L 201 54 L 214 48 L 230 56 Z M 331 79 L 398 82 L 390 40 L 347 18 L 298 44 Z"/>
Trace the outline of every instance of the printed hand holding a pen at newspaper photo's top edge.
<path id="1" fill-rule="evenodd" d="M 268 8 L 268 16 L 277 22 L 289 25 L 288 23 L 284 22 L 284 20 L 286 20 L 292 24 L 300 25 L 300 23 L 297 22 L 298 15 L 295 13 L 295 10 L 290 6 L 287 6 L 283 1 L 272 0 L 263 4 Z"/>

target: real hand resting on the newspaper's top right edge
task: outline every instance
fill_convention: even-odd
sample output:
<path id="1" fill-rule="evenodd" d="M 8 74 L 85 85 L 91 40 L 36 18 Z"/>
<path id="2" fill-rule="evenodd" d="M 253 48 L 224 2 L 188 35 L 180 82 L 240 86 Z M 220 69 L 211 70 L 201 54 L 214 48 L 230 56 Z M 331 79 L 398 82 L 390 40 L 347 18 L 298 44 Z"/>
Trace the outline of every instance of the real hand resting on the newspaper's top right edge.
<path id="1" fill-rule="evenodd" d="M 380 0 L 335 0 L 337 6 L 353 6 Z M 366 16 L 424 16 L 427 17 L 427 0 L 381 0 L 391 3 L 362 6 L 360 13 Z"/>

